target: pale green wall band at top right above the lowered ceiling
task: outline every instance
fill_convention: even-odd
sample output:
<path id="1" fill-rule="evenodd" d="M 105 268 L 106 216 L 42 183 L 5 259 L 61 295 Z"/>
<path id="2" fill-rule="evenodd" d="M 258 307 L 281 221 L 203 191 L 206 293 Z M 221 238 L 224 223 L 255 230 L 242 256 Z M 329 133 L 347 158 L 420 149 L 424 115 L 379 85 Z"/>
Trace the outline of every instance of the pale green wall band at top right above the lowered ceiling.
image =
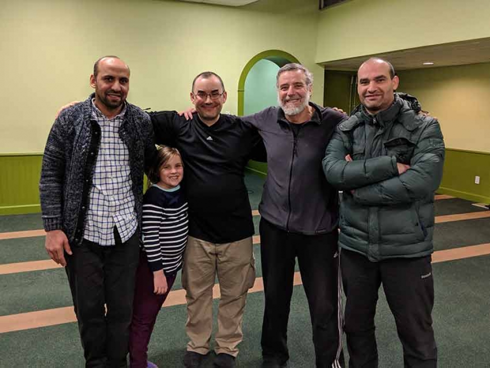
<path id="1" fill-rule="evenodd" d="M 321 11 L 316 62 L 490 36 L 488 0 L 350 0 Z"/>

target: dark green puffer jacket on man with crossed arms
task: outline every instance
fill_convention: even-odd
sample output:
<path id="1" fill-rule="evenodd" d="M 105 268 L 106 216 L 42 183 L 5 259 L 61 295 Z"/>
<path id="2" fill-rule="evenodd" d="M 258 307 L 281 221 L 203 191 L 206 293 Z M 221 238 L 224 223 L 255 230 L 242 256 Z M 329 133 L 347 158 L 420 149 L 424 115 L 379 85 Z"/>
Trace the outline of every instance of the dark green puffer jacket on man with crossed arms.
<path id="1" fill-rule="evenodd" d="M 326 179 L 343 190 L 339 244 L 371 261 L 433 251 L 434 190 L 444 141 L 438 121 L 418 101 L 395 93 L 376 115 L 357 106 L 341 122 L 323 158 Z M 352 161 L 345 156 L 350 154 Z M 410 168 L 398 175 L 396 163 Z"/>

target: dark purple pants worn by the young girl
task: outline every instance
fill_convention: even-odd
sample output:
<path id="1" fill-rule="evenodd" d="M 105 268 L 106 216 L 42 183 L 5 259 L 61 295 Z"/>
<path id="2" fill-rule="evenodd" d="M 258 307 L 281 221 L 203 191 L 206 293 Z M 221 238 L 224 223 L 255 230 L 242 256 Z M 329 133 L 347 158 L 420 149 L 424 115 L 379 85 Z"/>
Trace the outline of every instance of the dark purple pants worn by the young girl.
<path id="1" fill-rule="evenodd" d="M 148 267 L 144 250 L 139 252 L 132 320 L 129 331 L 129 363 L 131 368 L 146 368 L 148 342 L 156 316 L 170 291 L 176 273 L 166 276 L 168 290 L 162 295 L 153 293 L 153 272 Z"/>

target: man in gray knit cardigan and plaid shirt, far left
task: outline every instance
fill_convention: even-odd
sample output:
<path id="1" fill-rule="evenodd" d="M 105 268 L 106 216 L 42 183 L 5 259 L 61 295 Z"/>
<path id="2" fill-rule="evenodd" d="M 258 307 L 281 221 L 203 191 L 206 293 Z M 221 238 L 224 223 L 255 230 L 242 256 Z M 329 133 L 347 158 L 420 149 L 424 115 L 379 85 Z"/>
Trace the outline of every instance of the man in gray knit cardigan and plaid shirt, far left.
<path id="1" fill-rule="evenodd" d="M 47 138 L 39 182 L 45 247 L 65 266 L 86 366 L 125 367 L 143 165 L 155 146 L 148 115 L 125 101 L 122 60 L 99 58 L 90 85 L 95 93 L 63 110 Z"/>

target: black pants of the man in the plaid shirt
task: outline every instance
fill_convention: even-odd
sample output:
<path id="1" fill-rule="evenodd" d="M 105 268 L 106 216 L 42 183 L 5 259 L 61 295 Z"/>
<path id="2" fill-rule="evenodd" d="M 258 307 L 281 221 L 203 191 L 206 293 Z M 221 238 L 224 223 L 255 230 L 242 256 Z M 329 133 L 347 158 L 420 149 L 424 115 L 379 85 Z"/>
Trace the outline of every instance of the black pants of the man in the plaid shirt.
<path id="1" fill-rule="evenodd" d="M 101 246 L 83 239 L 65 253 L 87 368 L 126 367 L 135 273 L 139 260 L 136 231 L 121 242 Z M 105 307 L 107 310 L 105 310 Z"/>

